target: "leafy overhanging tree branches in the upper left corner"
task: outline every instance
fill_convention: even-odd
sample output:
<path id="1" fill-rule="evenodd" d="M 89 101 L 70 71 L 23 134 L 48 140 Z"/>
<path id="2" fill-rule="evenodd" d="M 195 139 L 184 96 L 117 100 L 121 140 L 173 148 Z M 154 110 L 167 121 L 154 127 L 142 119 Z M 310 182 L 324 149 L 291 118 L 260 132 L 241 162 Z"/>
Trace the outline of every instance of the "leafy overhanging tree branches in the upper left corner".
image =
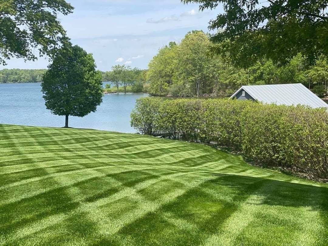
<path id="1" fill-rule="evenodd" d="M 0 63 L 11 57 L 36 60 L 52 57 L 68 41 L 57 14 L 72 13 L 64 0 L 0 0 Z"/>

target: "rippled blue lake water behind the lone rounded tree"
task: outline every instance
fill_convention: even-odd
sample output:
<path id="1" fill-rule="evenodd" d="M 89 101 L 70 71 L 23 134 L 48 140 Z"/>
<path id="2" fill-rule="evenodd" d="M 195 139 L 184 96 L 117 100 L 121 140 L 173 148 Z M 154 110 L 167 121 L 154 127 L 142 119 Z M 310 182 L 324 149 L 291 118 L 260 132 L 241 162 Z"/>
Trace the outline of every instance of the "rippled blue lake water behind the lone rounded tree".
<path id="1" fill-rule="evenodd" d="M 104 83 L 105 84 L 105 83 Z M 135 100 L 147 93 L 106 94 L 95 113 L 69 117 L 69 126 L 123 133 L 135 133 L 130 113 Z M 65 116 L 51 114 L 44 105 L 40 83 L 0 84 L 0 124 L 63 127 Z"/>

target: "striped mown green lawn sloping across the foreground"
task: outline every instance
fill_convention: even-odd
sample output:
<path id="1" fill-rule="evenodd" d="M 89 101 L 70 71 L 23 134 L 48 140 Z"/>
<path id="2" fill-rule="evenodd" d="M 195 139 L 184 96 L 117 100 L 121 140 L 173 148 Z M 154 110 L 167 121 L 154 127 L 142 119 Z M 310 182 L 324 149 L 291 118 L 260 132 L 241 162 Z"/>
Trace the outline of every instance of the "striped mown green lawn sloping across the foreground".
<path id="1" fill-rule="evenodd" d="M 0 125 L 0 245 L 327 245 L 328 186 L 213 148 Z"/>

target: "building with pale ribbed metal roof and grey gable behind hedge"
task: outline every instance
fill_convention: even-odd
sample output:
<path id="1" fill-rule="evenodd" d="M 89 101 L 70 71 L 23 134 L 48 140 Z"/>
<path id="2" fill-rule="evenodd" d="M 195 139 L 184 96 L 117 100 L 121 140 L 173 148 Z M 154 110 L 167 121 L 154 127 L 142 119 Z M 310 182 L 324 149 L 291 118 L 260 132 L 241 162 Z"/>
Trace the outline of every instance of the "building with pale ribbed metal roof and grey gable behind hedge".
<path id="1" fill-rule="evenodd" d="M 263 103 L 277 105 L 306 105 L 312 108 L 328 108 L 328 104 L 321 100 L 302 84 L 280 85 L 249 85 L 242 86 L 231 97 L 238 100 L 257 100 Z"/>

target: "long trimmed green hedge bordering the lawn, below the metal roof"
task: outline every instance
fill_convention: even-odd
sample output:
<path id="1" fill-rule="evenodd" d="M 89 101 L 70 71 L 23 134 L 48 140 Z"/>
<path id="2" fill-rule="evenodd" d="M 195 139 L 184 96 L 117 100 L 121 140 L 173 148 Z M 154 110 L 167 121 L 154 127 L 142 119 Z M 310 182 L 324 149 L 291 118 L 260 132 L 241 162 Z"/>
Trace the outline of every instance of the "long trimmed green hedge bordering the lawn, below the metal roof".
<path id="1" fill-rule="evenodd" d="M 148 135 L 210 143 L 254 163 L 328 178 L 328 114 L 304 106 L 228 99 L 137 100 L 131 126 Z"/>

